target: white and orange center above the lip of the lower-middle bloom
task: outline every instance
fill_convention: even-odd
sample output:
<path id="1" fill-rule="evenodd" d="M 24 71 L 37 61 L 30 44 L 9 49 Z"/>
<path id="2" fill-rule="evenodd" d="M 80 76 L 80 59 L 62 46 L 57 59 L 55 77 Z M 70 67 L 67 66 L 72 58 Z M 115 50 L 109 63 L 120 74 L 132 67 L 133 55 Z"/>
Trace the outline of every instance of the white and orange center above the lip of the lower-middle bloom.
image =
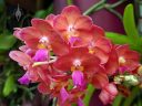
<path id="1" fill-rule="evenodd" d="M 81 61 L 80 60 L 74 60 L 73 62 L 73 66 L 71 66 L 71 71 L 83 71 L 84 67 L 81 65 Z"/>

